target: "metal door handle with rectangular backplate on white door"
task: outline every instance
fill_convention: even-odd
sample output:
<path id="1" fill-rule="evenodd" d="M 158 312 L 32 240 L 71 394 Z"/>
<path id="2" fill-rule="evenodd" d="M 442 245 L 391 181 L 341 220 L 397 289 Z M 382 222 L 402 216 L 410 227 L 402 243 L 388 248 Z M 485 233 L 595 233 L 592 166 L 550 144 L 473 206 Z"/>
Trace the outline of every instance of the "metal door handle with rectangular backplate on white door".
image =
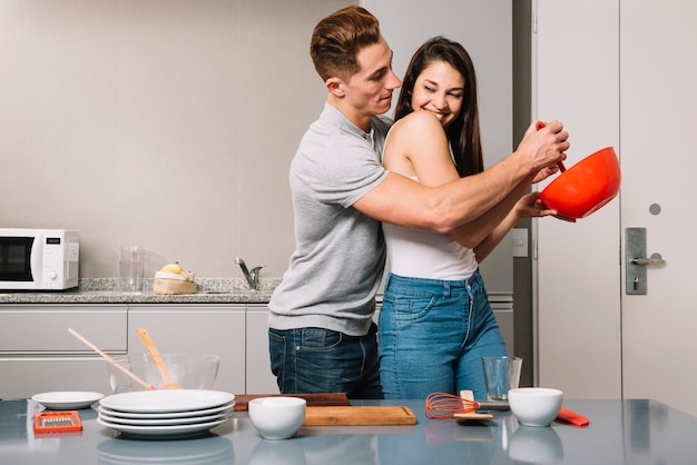
<path id="1" fill-rule="evenodd" d="M 648 267 L 665 266 L 666 260 L 658 253 L 646 257 L 646 228 L 627 228 L 625 245 L 625 293 L 628 295 L 646 295 L 648 291 Z"/>

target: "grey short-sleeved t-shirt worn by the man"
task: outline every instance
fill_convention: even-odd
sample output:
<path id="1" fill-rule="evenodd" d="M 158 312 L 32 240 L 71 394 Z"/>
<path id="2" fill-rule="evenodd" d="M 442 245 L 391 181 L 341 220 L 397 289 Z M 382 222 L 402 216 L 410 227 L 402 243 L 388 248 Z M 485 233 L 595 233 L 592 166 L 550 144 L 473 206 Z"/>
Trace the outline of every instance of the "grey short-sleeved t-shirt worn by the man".
<path id="1" fill-rule="evenodd" d="M 276 329 L 367 333 L 385 263 L 380 221 L 353 204 L 385 179 L 382 149 L 392 121 L 365 133 L 326 103 L 291 164 L 295 251 L 268 308 Z"/>

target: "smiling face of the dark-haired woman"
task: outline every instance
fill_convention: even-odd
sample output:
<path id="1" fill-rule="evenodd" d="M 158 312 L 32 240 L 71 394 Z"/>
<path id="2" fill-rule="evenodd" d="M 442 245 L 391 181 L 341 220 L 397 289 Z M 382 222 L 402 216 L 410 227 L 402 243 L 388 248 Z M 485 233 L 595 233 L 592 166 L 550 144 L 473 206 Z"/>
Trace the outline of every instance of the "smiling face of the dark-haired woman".
<path id="1" fill-rule="evenodd" d="M 462 110 L 464 78 L 445 61 L 433 61 L 416 78 L 412 93 L 412 109 L 431 111 L 443 127 Z"/>

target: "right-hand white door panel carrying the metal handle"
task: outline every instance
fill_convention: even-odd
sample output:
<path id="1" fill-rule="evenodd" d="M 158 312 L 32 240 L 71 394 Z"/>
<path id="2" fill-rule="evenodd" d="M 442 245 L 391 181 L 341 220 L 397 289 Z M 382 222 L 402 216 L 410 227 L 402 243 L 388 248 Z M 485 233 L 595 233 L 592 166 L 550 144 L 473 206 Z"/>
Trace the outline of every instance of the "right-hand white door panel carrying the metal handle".
<path id="1" fill-rule="evenodd" d="M 621 1 L 621 225 L 646 228 L 666 260 L 646 270 L 646 295 L 622 293 L 624 394 L 697 415 L 695 18 L 693 0 Z"/>

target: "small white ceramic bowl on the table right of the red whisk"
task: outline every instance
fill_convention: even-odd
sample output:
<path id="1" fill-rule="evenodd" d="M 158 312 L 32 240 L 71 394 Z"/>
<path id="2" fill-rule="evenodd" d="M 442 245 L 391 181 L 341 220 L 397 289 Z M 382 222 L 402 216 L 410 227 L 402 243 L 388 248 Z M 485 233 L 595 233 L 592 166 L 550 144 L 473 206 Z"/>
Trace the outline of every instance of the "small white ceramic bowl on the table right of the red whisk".
<path id="1" fill-rule="evenodd" d="M 549 426 L 559 414 L 563 393 L 547 387 L 521 387 L 508 392 L 511 412 L 526 426 Z"/>

